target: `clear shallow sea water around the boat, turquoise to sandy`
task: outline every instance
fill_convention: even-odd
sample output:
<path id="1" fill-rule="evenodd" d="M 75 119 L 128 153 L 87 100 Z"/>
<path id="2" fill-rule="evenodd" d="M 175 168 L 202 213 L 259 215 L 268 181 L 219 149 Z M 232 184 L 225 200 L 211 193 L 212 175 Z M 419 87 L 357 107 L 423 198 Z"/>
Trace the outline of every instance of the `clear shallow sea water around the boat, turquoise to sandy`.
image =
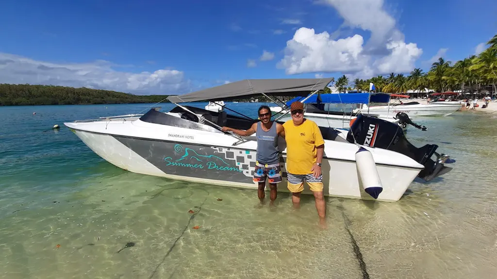
<path id="1" fill-rule="evenodd" d="M 253 117 L 259 105 L 230 107 Z M 397 203 L 327 199 L 322 230 L 310 197 L 300 210 L 286 193 L 274 208 L 260 207 L 252 190 L 130 173 L 67 128 L 50 129 L 149 106 L 0 107 L 0 278 L 497 274 L 495 118 L 457 112 L 415 119 L 428 131 L 410 127 L 408 139 L 438 142 L 437 151 L 456 159 L 454 170 L 430 183 L 416 180 Z M 116 253 L 128 242 L 134 246 Z"/>

